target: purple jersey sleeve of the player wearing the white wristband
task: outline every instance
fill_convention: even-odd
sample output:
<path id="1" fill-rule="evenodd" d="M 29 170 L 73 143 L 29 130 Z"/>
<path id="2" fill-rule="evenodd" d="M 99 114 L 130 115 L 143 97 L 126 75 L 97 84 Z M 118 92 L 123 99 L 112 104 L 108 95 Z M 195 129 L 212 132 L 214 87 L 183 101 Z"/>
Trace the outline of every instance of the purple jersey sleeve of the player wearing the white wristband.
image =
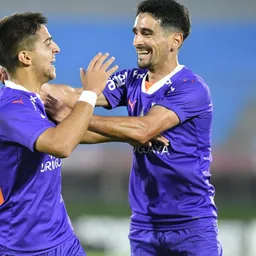
<path id="1" fill-rule="evenodd" d="M 31 151 L 34 151 L 37 138 L 54 126 L 47 117 L 26 104 L 9 103 L 0 111 L 1 139 L 18 143 Z"/>

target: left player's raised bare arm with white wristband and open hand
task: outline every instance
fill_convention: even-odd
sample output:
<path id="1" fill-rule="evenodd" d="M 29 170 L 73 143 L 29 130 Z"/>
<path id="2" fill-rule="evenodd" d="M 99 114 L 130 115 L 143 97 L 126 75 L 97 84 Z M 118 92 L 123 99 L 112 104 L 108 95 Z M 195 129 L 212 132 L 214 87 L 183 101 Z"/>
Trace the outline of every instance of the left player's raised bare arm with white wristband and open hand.
<path id="1" fill-rule="evenodd" d="M 88 128 L 89 120 L 93 113 L 97 97 L 105 88 L 108 77 L 113 74 L 118 66 L 109 69 L 114 58 L 106 62 L 108 54 L 96 55 L 87 72 L 80 71 L 83 92 L 70 115 L 56 127 L 43 132 L 35 143 L 37 151 L 49 153 L 57 157 L 67 157 L 79 144 Z"/>

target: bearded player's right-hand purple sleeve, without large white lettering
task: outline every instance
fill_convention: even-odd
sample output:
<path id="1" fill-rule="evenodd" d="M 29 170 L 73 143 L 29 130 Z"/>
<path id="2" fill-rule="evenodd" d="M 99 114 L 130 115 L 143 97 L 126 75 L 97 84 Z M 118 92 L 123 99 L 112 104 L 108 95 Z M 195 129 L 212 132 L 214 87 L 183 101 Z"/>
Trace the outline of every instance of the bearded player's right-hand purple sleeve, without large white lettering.
<path id="1" fill-rule="evenodd" d="M 209 88 L 200 81 L 173 84 L 156 104 L 174 111 L 181 123 L 212 111 Z"/>

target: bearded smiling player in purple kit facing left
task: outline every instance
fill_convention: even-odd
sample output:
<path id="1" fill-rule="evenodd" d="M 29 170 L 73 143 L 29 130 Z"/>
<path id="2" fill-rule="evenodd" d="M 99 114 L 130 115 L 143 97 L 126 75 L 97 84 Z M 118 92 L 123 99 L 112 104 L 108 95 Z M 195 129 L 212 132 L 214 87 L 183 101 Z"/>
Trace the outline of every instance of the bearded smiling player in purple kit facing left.
<path id="1" fill-rule="evenodd" d="M 136 146 L 129 181 L 132 256 L 219 256 L 210 183 L 212 100 L 205 81 L 178 62 L 191 29 L 173 0 L 145 0 L 133 27 L 138 66 L 114 74 L 99 97 L 129 117 L 93 116 L 89 130 L 141 144 L 162 134 L 169 146 Z M 105 102 L 104 102 L 105 100 Z"/>

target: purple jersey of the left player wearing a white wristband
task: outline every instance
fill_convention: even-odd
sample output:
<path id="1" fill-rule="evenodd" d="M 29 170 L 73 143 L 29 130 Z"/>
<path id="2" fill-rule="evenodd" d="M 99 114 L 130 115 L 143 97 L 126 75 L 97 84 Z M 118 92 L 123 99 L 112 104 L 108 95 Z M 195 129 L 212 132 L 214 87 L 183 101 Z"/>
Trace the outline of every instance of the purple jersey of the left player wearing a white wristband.
<path id="1" fill-rule="evenodd" d="M 73 229 L 61 196 L 61 159 L 34 151 L 55 125 L 38 95 L 12 82 L 0 90 L 0 245 L 37 255 Z"/>

